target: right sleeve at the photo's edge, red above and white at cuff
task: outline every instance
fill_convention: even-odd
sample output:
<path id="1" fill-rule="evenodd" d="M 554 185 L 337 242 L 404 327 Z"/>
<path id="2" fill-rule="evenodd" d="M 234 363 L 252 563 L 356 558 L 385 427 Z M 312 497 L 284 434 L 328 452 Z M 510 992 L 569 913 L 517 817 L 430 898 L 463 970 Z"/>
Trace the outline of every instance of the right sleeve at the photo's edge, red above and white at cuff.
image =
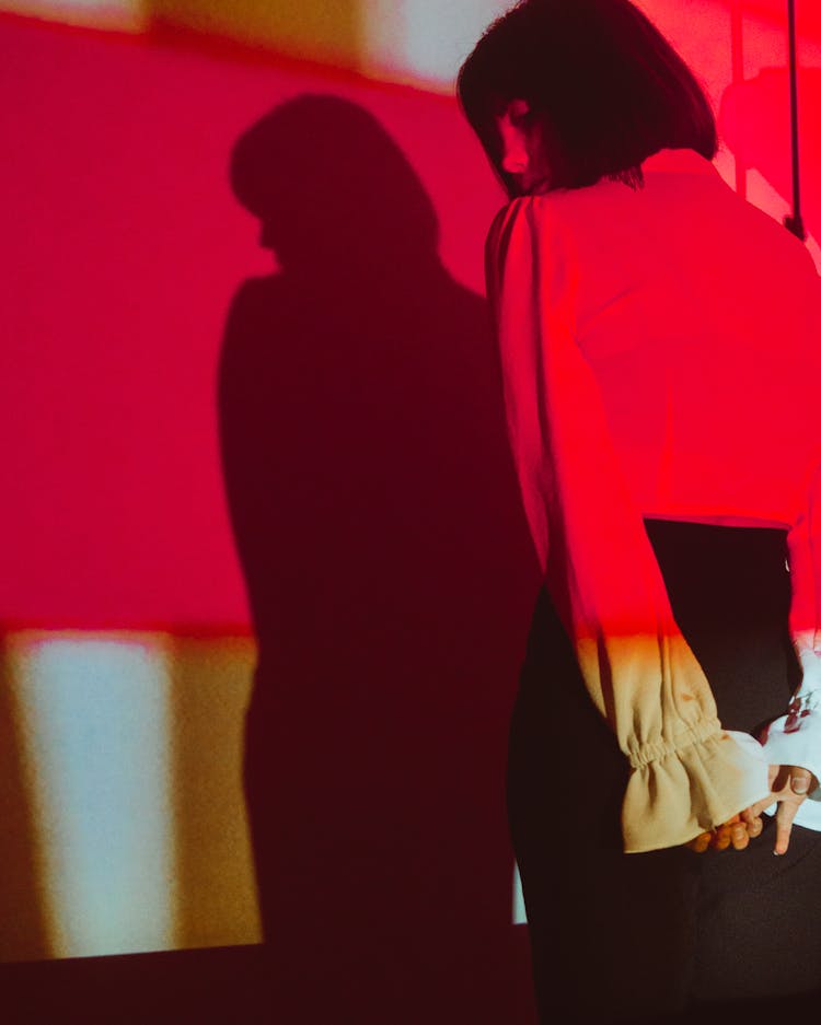
<path id="1" fill-rule="evenodd" d="M 772 765 L 801 766 L 821 780 L 821 467 L 787 537 L 793 598 L 789 628 L 801 666 L 801 683 L 784 715 L 764 730 Z M 799 807 L 796 823 L 821 829 L 821 788 Z"/>

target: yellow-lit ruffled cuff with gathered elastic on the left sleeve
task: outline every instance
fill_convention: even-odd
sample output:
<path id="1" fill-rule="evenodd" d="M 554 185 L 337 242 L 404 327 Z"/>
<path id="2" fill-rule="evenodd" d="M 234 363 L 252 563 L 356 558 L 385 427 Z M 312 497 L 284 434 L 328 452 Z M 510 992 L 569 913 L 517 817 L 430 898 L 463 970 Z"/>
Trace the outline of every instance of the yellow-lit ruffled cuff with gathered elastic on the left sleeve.
<path id="1" fill-rule="evenodd" d="M 770 792 L 761 745 L 717 720 L 692 727 L 678 744 L 644 745 L 631 765 L 622 805 L 627 853 L 686 843 Z"/>

